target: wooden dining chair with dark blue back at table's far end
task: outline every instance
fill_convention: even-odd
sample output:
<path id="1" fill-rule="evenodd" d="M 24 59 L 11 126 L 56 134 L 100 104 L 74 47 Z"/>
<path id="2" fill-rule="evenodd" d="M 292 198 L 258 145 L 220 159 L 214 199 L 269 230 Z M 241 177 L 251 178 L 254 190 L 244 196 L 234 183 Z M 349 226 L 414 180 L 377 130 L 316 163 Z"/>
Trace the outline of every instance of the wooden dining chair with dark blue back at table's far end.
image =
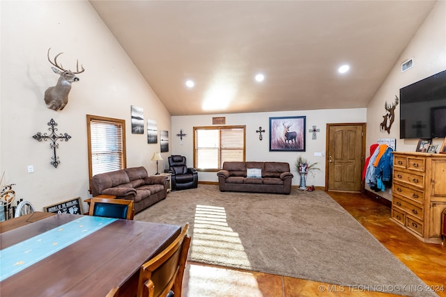
<path id="1" fill-rule="evenodd" d="M 89 215 L 133 220 L 133 200 L 91 198 Z"/>

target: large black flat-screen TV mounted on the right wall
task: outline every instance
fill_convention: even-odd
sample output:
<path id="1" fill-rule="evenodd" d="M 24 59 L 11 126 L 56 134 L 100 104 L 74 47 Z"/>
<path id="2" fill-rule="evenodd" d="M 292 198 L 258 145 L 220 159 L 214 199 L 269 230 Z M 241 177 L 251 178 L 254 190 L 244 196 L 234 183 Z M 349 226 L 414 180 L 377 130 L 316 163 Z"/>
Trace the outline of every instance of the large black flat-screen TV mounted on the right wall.
<path id="1" fill-rule="evenodd" d="M 399 90 L 399 136 L 446 136 L 446 70 Z"/>

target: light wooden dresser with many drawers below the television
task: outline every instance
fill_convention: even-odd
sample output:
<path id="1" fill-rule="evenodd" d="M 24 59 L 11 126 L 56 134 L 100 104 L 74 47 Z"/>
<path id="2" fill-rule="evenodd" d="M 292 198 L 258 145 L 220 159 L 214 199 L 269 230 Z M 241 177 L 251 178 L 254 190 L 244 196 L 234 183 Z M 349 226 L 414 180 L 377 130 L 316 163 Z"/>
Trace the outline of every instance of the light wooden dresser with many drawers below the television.
<path id="1" fill-rule="evenodd" d="M 392 217 L 426 243 L 441 243 L 446 154 L 393 153 Z"/>

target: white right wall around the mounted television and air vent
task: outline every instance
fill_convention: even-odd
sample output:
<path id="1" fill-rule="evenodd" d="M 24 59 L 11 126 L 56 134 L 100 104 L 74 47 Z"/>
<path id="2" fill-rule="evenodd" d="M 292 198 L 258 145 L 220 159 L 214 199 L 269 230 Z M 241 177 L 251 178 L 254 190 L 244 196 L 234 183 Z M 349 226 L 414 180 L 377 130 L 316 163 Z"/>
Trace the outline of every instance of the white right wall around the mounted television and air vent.
<path id="1" fill-rule="evenodd" d="M 410 58 L 414 61 L 413 68 L 401 73 L 401 63 Z M 399 97 L 400 88 L 443 70 L 446 70 L 446 1 L 438 1 L 367 106 L 367 156 L 368 147 L 376 143 L 378 138 L 396 138 L 397 151 L 415 152 L 418 139 L 399 139 L 399 106 L 395 109 L 395 121 L 390 134 L 380 131 L 385 102 L 394 102 L 395 95 Z M 433 144 L 442 143 L 443 138 L 433 140 Z M 378 195 L 392 199 L 390 190 L 379 192 Z"/>

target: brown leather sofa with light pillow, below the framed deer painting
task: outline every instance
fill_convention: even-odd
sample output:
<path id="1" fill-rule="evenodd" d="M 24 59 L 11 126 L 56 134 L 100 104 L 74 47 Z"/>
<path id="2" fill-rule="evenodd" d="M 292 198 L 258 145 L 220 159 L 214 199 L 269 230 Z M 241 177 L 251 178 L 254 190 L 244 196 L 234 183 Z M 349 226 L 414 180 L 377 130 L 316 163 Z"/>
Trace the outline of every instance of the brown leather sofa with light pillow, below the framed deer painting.
<path id="1" fill-rule="evenodd" d="M 254 169 L 254 170 L 253 170 Z M 291 192 L 289 163 L 284 162 L 224 162 L 217 172 L 220 191 L 256 193 Z"/>

